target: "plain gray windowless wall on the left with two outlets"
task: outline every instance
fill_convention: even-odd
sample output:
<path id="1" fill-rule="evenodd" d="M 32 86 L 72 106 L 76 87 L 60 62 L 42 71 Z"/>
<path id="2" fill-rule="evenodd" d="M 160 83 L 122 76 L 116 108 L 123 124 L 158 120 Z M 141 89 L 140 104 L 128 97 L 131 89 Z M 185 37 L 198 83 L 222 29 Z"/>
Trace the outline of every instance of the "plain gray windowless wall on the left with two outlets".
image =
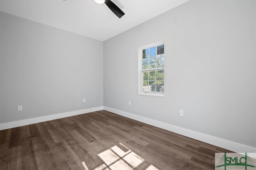
<path id="1" fill-rule="evenodd" d="M 0 21 L 0 123 L 103 106 L 103 42 L 3 12 Z"/>

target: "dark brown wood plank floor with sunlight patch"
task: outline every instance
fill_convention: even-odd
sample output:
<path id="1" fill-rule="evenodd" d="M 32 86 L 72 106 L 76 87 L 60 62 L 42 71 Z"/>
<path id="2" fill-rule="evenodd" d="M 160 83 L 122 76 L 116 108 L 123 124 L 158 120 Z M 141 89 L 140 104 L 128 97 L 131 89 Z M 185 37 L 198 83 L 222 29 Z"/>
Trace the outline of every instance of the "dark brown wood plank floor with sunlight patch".
<path id="1" fill-rule="evenodd" d="M 214 170 L 231 152 L 104 110 L 0 131 L 0 170 Z"/>

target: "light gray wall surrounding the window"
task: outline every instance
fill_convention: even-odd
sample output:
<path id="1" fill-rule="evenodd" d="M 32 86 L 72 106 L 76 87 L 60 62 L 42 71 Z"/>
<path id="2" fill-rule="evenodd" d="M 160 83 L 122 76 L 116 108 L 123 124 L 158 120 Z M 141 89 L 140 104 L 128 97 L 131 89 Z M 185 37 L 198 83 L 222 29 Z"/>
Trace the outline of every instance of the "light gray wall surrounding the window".
<path id="1" fill-rule="evenodd" d="M 255 3 L 192 0 L 104 41 L 104 106 L 256 147 Z M 138 47 L 162 40 L 165 96 L 138 95 Z"/>

